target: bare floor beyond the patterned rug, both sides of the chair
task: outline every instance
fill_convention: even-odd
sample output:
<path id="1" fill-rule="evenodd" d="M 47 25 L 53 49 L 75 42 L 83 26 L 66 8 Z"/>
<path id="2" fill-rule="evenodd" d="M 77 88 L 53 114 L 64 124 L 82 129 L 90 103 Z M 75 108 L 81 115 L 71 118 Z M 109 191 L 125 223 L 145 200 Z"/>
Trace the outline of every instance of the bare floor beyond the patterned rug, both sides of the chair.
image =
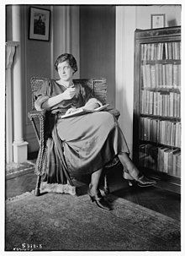
<path id="1" fill-rule="evenodd" d="M 6 199 L 32 191 L 35 187 L 36 178 L 34 168 L 7 176 L 5 188 Z M 79 180 L 86 184 L 88 182 L 87 177 L 80 177 Z M 155 187 L 149 188 L 129 187 L 128 182 L 122 177 L 119 166 L 109 170 L 108 186 L 110 192 L 120 198 L 127 199 L 135 204 L 140 204 L 180 221 L 181 196 L 179 193 L 160 188 L 161 186 L 157 186 L 157 184 Z"/>

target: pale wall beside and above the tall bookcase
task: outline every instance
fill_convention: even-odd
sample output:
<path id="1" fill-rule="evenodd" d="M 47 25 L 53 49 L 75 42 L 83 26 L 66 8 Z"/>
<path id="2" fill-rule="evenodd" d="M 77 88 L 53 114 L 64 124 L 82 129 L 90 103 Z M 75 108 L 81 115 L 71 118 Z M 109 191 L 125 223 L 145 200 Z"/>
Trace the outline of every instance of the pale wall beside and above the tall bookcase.
<path id="1" fill-rule="evenodd" d="M 151 29 L 151 14 L 166 14 L 166 26 L 176 20 L 181 25 L 181 7 L 177 5 L 116 7 L 116 107 L 119 124 L 132 155 L 134 95 L 135 29 Z"/>

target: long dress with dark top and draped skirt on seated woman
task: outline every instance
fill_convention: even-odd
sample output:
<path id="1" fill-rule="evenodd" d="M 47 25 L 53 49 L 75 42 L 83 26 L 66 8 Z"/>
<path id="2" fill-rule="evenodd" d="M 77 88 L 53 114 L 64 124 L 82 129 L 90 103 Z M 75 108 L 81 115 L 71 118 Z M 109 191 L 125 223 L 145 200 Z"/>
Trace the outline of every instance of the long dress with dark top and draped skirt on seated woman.
<path id="1" fill-rule="evenodd" d="M 50 110 L 57 115 L 56 131 L 63 144 L 68 171 L 73 177 L 96 172 L 119 153 L 129 153 L 124 134 L 111 113 L 103 111 L 60 118 L 72 106 L 84 106 L 90 99 L 96 101 L 88 87 L 83 87 L 81 84 L 74 85 L 76 95 L 71 100 L 61 101 Z M 50 79 L 50 82 L 44 84 L 36 95 L 36 109 L 41 110 L 43 102 L 65 90 L 66 88 L 57 84 L 56 80 Z M 50 177 L 49 172 L 50 169 L 48 170 Z"/>

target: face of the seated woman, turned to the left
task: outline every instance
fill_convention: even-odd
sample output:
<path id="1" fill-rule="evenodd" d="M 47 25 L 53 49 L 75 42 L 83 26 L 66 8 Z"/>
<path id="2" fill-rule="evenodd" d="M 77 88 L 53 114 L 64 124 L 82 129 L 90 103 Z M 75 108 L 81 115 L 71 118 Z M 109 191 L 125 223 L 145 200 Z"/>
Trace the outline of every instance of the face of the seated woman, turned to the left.
<path id="1" fill-rule="evenodd" d="M 74 70 L 71 68 L 68 61 L 58 64 L 58 74 L 61 80 L 70 81 L 72 79 Z"/>

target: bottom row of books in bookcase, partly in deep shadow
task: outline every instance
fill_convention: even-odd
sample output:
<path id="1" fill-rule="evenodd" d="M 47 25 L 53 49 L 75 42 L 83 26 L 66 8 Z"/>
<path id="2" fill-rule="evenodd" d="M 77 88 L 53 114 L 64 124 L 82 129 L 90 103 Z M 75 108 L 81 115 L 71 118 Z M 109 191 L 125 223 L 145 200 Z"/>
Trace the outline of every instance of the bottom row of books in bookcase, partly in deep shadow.
<path id="1" fill-rule="evenodd" d="M 181 177 L 181 150 L 171 150 L 151 144 L 140 144 L 139 161 L 140 166 Z"/>

